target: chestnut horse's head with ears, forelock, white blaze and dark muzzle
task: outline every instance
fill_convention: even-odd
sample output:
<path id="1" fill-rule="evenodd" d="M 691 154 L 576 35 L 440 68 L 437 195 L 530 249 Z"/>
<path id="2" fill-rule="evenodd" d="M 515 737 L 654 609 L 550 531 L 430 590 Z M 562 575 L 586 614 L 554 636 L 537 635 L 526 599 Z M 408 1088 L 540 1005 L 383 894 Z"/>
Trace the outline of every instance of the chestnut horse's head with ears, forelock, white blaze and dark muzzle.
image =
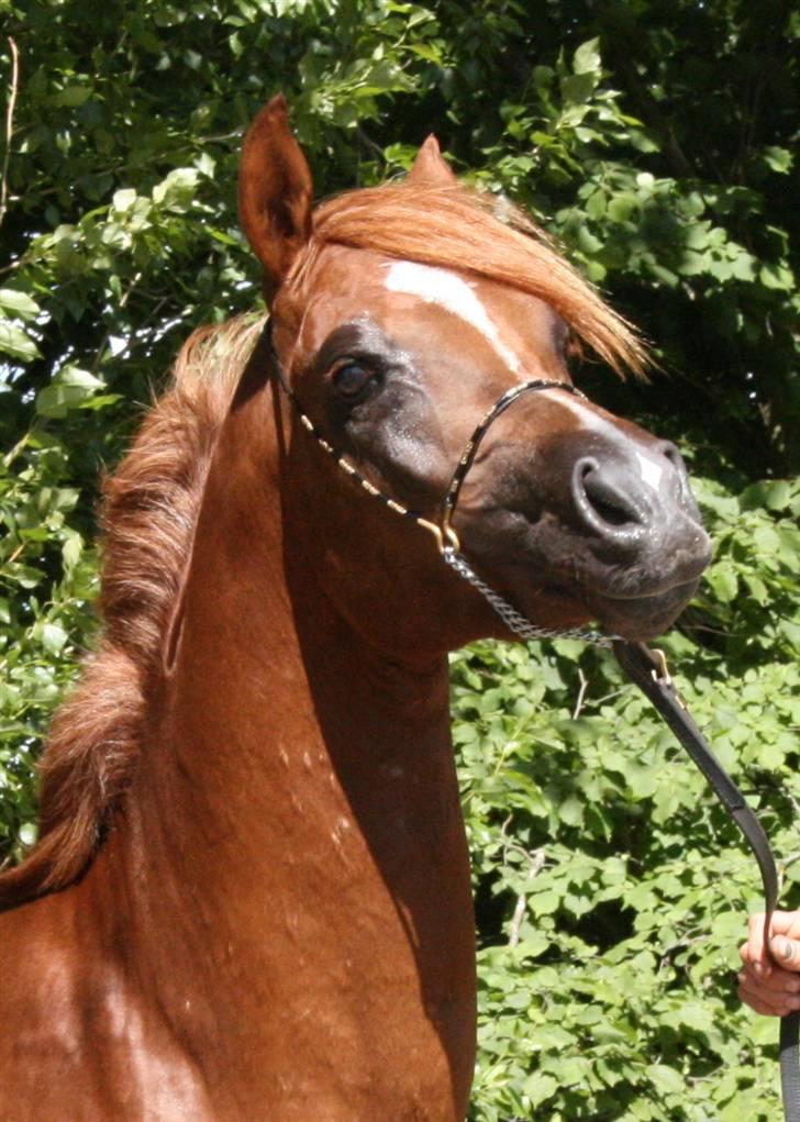
<path id="1" fill-rule="evenodd" d="M 433 138 L 405 182 L 312 211 L 282 98 L 247 136 L 240 209 L 276 365 L 306 422 L 295 500 L 314 511 L 348 616 L 377 627 L 388 609 L 419 641 L 441 613 L 450 646 L 507 636 L 430 536 L 358 494 L 320 442 L 440 545 L 459 542 L 533 623 L 594 618 L 626 638 L 670 626 L 709 559 L 687 471 L 673 444 L 574 390 L 571 340 L 617 370 L 641 370 L 644 351 L 541 231 L 461 186 Z M 378 560 L 367 583 L 365 557 Z"/>

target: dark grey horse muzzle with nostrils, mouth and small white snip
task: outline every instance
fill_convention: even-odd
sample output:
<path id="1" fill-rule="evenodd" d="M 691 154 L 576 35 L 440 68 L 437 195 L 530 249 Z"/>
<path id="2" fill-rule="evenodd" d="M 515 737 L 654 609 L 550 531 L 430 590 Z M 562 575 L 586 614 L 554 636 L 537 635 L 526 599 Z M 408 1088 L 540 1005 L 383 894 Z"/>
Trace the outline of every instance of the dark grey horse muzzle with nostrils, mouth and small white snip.
<path id="1" fill-rule="evenodd" d="M 626 638 L 672 624 L 710 559 L 672 444 L 637 430 L 570 433 L 528 463 L 519 445 L 491 452 L 476 465 L 457 528 L 495 587 L 534 620 L 546 588 Z"/>

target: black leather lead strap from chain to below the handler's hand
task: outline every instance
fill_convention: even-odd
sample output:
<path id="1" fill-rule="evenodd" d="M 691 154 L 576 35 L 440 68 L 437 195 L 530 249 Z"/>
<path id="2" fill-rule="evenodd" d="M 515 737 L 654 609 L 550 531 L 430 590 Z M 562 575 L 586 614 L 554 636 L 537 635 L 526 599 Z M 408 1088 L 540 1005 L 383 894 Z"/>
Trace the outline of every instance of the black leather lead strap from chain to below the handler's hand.
<path id="1" fill-rule="evenodd" d="M 770 923 L 778 904 L 778 870 L 761 822 L 687 711 L 672 684 L 663 655 L 649 650 L 644 643 L 626 643 L 624 640 L 616 640 L 612 646 L 619 665 L 655 707 L 664 723 L 669 725 L 747 839 L 747 844 L 758 863 L 764 886 L 764 946 L 770 953 Z M 784 1122 L 800 1122 L 799 1030 L 800 1011 L 796 1010 L 781 1018 L 781 1091 Z"/>

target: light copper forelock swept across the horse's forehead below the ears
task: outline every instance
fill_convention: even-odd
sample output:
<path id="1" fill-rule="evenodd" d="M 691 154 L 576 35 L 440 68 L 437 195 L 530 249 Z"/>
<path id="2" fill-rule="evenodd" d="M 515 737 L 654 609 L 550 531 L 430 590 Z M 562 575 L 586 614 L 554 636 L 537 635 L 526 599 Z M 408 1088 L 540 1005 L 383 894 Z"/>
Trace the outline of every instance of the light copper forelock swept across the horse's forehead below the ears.
<path id="1" fill-rule="evenodd" d="M 312 239 L 288 277 L 301 298 L 321 251 L 331 243 L 460 269 L 522 289 L 549 304 L 618 374 L 641 375 L 647 366 L 635 329 L 505 199 L 459 183 L 404 181 L 329 200 L 315 210 Z"/>

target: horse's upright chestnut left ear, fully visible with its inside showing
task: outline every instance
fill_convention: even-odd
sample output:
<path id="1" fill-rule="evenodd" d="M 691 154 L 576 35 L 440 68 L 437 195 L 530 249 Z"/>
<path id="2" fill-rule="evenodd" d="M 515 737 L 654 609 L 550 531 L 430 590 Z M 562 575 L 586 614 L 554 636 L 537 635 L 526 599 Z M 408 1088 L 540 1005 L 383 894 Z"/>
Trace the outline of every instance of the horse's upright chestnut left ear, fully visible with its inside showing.
<path id="1" fill-rule="evenodd" d="M 250 126 L 239 167 L 239 214 L 264 266 L 270 300 L 311 237 L 313 182 L 288 125 L 286 99 L 273 98 Z"/>

